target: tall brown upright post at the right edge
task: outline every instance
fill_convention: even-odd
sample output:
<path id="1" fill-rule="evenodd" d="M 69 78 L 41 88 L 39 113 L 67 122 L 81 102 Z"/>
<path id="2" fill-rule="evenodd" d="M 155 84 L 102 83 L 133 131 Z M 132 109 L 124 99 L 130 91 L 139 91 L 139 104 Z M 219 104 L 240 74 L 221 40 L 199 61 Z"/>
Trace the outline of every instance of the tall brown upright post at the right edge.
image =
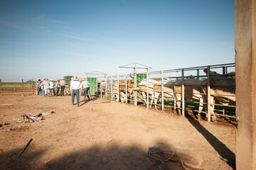
<path id="1" fill-rule="evenodd" d="M 256 169 L 256 0 L 235 0 L 237 169 Z"/>

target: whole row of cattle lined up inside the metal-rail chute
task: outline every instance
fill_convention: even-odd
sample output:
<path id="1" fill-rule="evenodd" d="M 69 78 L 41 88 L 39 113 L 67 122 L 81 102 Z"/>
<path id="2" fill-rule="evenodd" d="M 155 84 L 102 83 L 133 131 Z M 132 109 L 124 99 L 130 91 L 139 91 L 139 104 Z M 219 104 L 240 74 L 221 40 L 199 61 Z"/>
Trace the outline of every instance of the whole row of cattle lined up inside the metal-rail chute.
<path id="1" fill-rule="evenodd" d="M 207 74 L 207 69 L 203 72 Z M 132 77 L 132 76 L 131 76 Z M 208 110 L 207 103 L 210 103 L 210 115 L 212 120 L 216 119 L 214 113 L 215 102 L 223 105 L 235 103 L 235 79 L 227 78 L 223 74 L 217 74 L 216 72 L 209 73 L 210 81 L 208 79 L 193 79 L 186 77 L 182 79 L 171 80 L 169 78 L 163 79 L 163 87 L 161 85 L 161 79 L 142 79 L 139 84 L 135 86 L 134 77 L 129 80 L 113 81 L 112 90 L 111 84 L 102 82 L 100 89 L 111 94 L 117 101 L 134 101 L 135 91 L 142 94 L 142 101 L 146 105 L 147 94 L 149 94 L 150 102 L 149 107 L 156 107 L 159 105 L 159 99 L 162 94 L 164 98 L 169 101 L 174 101 L 174 111 L 177 111 L 181 115 L 181 102 L 182 102 L 182 84 L 184 100 L 193 100 L 199 103 L 197 118 L 201 118 L 201 112 L 203 107 Z M 208 84 L 210 84 L 210 97 L 208 94 Z M 107 89 L 107 91 L 105 91 Z M 148 89 L 148 90 L 147 90 Z M 163 92 L 162 92 L 163 89 Z M 206 114 L 207 116 L 207 114 Z"/>

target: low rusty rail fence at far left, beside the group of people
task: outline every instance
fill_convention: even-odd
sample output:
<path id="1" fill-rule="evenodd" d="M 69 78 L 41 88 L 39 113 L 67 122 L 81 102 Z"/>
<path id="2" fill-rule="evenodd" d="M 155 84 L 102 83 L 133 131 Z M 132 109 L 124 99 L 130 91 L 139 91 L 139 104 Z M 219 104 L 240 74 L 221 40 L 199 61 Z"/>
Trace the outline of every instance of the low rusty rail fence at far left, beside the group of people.
<path id="1" fill-rule="evenodd" d="M 0 95 L 33 95 L 36 93 L 36 81 L 33 79 L 0 79 Z"/>

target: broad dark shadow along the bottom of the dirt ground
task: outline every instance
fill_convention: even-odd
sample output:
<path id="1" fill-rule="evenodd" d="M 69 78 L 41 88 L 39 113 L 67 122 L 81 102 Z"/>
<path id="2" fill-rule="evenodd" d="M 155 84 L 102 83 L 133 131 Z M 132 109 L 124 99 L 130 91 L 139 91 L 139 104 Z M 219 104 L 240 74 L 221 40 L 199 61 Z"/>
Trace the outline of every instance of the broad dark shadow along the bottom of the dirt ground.
<path id="1" fill-rule="evenodd" d="M 107 144 L 110 145 L 110 144 Z M 157 151 L 171 150 L 171 147 L 164 143 L 158 143 L 156 146 L 148 148 L 157 149 Z M 168 162 L 149 157 L 148 152 L 139 146 L 131 145 L 128 147 L 119 147 L 110 145 L 102 147 L 94 145 L 87 149 L 78 149 L 78 151 L 63 154 L 61 157 L 50 159 L 48 155 L 39 150 L 36 152 L 24 152 L 20 159 L 16 155 L 21 149 L 11 150 L 0 154 L 0 163 L 2 169 L 175 169 L 182 170 L 181 158 L 184 166 L 194 164 L 195 160 L 187 154 L 175 152 L 174 156 Z M 41 157 L 42 156 L 42 157 Z M 167 158 L 169 155 L 157 154 L 156 156 Z M 48 160 L 46 160 L 48 159 Z M 50 159 L 50 160 L 49 160 Z M 197 163 L 197 162 L 196 162 Z M 1 169 L 0 168 L 0 169 Z M 191 169 L 191 168 L 190 168 Z"/>

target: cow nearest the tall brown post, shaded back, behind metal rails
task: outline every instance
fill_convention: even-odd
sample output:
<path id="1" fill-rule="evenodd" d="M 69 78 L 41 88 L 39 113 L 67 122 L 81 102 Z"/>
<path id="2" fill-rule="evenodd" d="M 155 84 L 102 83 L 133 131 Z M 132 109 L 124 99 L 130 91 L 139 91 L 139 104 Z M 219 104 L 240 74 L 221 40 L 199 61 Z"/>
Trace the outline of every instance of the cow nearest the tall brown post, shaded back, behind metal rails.
<path id="1" fill-rule="evenodd" d="M 203 72 L 207 74 L 207 69 Z M 205 79 L 201 84 L 201 89 L 204 94 L 207 94 L 208 79 Z M 222 74 L 210 72 L 210 114 L 212 119 L 216 120 L 214 113 L 214 103 L 218 101 L 224 105 L 235 103 L 235 79 L 223 77 Z"/>

